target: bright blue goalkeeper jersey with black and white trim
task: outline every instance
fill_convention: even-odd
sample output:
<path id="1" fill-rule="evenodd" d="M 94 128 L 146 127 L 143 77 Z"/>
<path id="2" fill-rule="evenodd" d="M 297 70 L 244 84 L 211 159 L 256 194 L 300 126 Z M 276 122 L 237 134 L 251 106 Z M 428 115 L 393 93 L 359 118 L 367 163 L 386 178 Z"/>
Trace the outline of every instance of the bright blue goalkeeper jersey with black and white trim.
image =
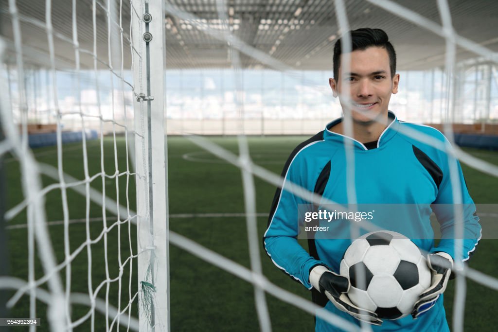
<path id="1" fill-rule="evenodd" d="M 275 193 L 263 236 L 264 248 L 278 268 L 312 290 L 315 303 L 356 325 L 359 325 L 358 320 L 336 309 L 313 289 L 309 281 L 310 270 L 316 265 L 327 265 L 339 273 L 340 262 L 351 239 L 315 236 L 308 239 L 309 252 L 306 251 L 298 242 L 303 223 L 298 210 L 309 202 L 286 190 L 289 183 L 333 202 L 347 204 L 348 168 L 354 170 L 358 204 L 427 204 L 434 207 L 454 202 L 463 203 L 466 207 L 463 209 L 465 237 L 461 257 L 464 260 L 469 258 L 481 238 L 475 205 L 467 190 L 459 162 L 449 159 L 445 152 L 444 146 L 448 147 L 449 143 L 444 135 L 429 126 L 400 121 L 390 111 L 388 116 L 391 122 L 373 146 L 330 131 L 329 128 L 342 121 L 342 118 L 332 121 L 325 130 L 298 145 L 285 163 L 282 172 L 285 180 L 282 189 Z M 354 167 L 346 162 L 346 140 L 350 140 L 353 145 Z M 431 141 L 438 143 L 440 148 L 432 146 Z M 451 181 L 450 167 L 457 170 L 456 178 L 459 181 L 455 181 L 455 178 Z M 459 186 L 454 186 L 455 183 L 459 183 Z M 448 209 L 437 209 L 422 210 L 416 220 L 407 221 L 407 227 L 416 229 L 421 235 L 416 239 L 409 237 L 425 251 L 444 251 L 455 258 L 455 218 L 452 213 L 447 213 Z M 432 210 L 441 226 L 441 240 L 437 246 L 429 220 Z M 382 326 L 372 328 L 373 331 L 449 331 L 443 296 L 417 320 L 413 320 L 411 316 L 394 321 L 384 320 Z M 317 318 L 316 331 L 342 330 Z"/>

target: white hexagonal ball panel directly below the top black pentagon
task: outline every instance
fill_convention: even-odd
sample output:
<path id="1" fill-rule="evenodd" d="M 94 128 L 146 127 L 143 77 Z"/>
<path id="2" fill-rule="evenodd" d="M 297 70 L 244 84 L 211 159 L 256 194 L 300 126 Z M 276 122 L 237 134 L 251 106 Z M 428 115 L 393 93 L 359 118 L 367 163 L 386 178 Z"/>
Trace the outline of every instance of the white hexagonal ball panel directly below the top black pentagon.
<path id="1" fill-rule="evenodd" d="M 363 260 L 373 275 L 392 275 L 399 261 L 398 253 L 390 245 L 371 246 Z"/>

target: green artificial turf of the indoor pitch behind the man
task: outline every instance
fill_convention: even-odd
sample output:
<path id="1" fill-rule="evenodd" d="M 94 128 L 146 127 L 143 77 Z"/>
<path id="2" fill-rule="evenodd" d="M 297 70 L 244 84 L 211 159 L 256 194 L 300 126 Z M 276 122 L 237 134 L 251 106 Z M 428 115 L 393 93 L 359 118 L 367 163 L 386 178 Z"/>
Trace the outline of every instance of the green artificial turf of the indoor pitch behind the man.
<path id="1" fill-rule="evenodd" d="M 287 156 L 292 149 L 306 137 L 275 136 L 249 137 L 249 149 L 253 161 L 280 174 Z M 234 137 L 212 137 L 222 147 L 237 153 L 238 144 Z M 100 141 L 88 142 L 88 167 L 90 176 L 102 171 Z M 114 158 L 114 142 L 112 137 L 106 137 L 104 147 L 104 171 L 107 175 L 116 173 Z M 118 171 L 126 170 L 124 138 L 117 138 Z M 466 149 L 486 161 L 498 164 L 498 153 L 477 149 Z M 39 162 L 57 166 L 57 153 L 54 147 L 34 150 Z M 19 164 L 13 158 L 7 158 L 6 166 L 6 202 L 12 208 L 23 200 L 20 182 Z M 130 162 L 131 167 L 131 162 Z M 476 203 L 498 203 L 498 179 L 478 172 L 467 165 L 462 165 L 466 182 Z M 63 147 L 64 172 L 79 179 L 84 179 L 82 149 L 80 143 L 67 144 Z M 130 170 L 133 172 L 133 169 Z M 214 157 L 191 141 L 182 137 L 168 138 L 168 176 L 169 176 L 169 208 L 170 229 L 182 234 L 199 244 L 224 255 L 225 257 L 250 268 L 249 244 L 247 226 L 243 217 L 193 217 L 176 218 L 177 214 L 206 213 L 243 213 L 244 192 L 242 190 L 241 171 Z M 42 176 L 43 186 L 59 182 L 47 176 Z M 126 196 L 129 198 L 129 208 L 136 210 L 134 176 L 129 176 L 128 192 L 126 194 L 127 176 L 118 178 L 119 201 L 126 206 Z M 268 213 L 275 187 L 265 181 L 255 178 L 256 207 L 258 213 Z M 116 200 L 116 179 L 97 177 L 91 186 L 102 192 L 103 183 L 106 196 Z M 61 190 L 54 189 L 46 195 L 46 216 L 48 221 L 64 219 Z M 72 189 L 67 190 L 69 220 L 85 218 L 86 200 Z M 92 203 L 90 218 L 102 218 L 102 207 Z M 108 225 L 117 218 L 106 213 Z M 121 220 L 126 216 L 121 216 Z M 8 224 L 26 222 L 26 209 L 22 210 Z M 266 218 L 258 217 L 259 238 L 266 228 Z M 103 221 L 90 223 L 90 238 L 95 239 L 103 230 Z M 107 235 L 107 257 L 110 278 L 116 278 L 119 273 L 118 251 L 121 250 L 122 262 L 130 255 L 130 245 L 136 254 L 136 227 L 124 223 L 114 226 Z M 58 262 L 64 259 L 64 227 L 52 225 L 49 227 L 52 246 Z M 121 239 L 118 240 L 118 234 Z M 7 231 L 10 275 L 27 280 L 27 231 L 25 228 L 9 229 Z M 87 239 L 85 223 L 75 222 L 69 226 L 70 250 L 74 251 Z M 131 243 L 128 239 L 131 239 Z M 258 239 L 259 240 L 259 239 Z M 102 238 L 91 245 L 91 276 L 92 287 L 95 290 L 106 279 L 105 240 Z M 260 242 L 258 242 L 260 243 Z M 120 244 L 120 248 L 119 248 Z M 305 244 L 304 244 L 305 245 Z M 276 285 L 295 294 L 310 299 L 309 291 L 302 285 L 292 281 L 281 272 L 264 253 L 259 245 L 262 268 L 265 276 Z M 475 255 L 470 260 L 470 266 L 489 275 L 498 276 L 498 261 L 496 252 L 498 241 L 483 239 L 480 241 Z M 125 262 L 121 285 L 121 308 L 127 305 L 129 298 L 128 284 L 131 282 L 131 294 L 137 290 L 136 258 Z M 131 264 L 131 274 L 130 274 Z M 71 264 L 71 292 L 88 293 L 88 253 L 86 247 L 75 257 Z M 36 278 L 43 275 L 42 265 L 35 260 Z M 66 269 L 60 272 L 65 285 Z M 130 281 L 131 280 L 131 281 Z M 46 284 L 41 287 L 47 288 Z M 106 285 L 100 290 L 98 297 L 106 298 Z M 119 283 L 112 282 L 109 286 L 109 301 L 117 307 Z M 473 281 L 467 281 L 466 311 L 464 330 L 495 331 L 498 325 L 498 293 Z M 450 282 L 445 292 L 445 308 L 450 326 L 452 324 L 452 308 L 454 296 L 454 281 Z M 296 307 L 284 303 L 271 295 L 266 296 L 273 331 L 312 331 L 313 317 Z M 137 316 L 136 299 L 131 307 L 131 314 Z M 252 285 L 233 276 L 226 271 L 175 247 L 170 246 L 170 303 L 172 331 L 257 331 L 259 329 L 254 305 Z M 37 317 L 42 318 L 42 326 L 38 331 L 48 331 L 45 306 L 38 302 Z M 73 321 L 88 313 L 88 306 L 74 305 L 72 307 Z M 11 310 L 12 317 L 29 316 L 29 297 L 23 296 Z M 111 324 L 111 322 L 109 322 Z M 96 331 L 105 331 L 104 315 L 95 315 Z M 116 328 L 114 328 L 116 330 Z M 124 329 L 120 329 L 123 330 Z M 12 331 L 23 331 L 12 330 Z M 75 331 L 90 331 L 90 319 L 75 329 Z"/>

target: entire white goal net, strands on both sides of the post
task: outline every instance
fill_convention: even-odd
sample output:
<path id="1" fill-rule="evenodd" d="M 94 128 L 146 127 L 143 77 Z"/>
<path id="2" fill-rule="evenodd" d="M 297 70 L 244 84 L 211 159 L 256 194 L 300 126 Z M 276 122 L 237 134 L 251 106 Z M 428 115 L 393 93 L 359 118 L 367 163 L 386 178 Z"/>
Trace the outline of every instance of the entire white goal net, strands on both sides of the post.
<path id="1" fill-rule="evenodd" d="M 445 0 L 438 1 L 441 25 L 393 1 L 367 2 L 427 29 L 446 41 L 445 70 L 441 73 L 446 96 L 441 99 L 443 111 L 440 117 L 453 148 L 449 149 L 447 145 L 419 132 L 406 130 L 404 134 L 437 149 L 450 151 L 450 161 L 458 158 L 481 172 L 497 177 L 497 166 L 456 147 L 449 122 L 452 114 L 464 114 L 464 111 L 455 111 L 459 105 L 455 102 L 456 46 L 492 62 L 496 62 L 497 54 L 455 32 Z M 15 256 L 9 252 L 11 259 L 18 264 L 12 264 L 14 268 L 10 276 L 0 277 L 2 288 L 14 290 L 7 306 L 24 308 L 18 313 L 26 317 L 47 317 L 53 331 L 71 331 L 76 328 L 101 331 L 104 326 L 106 331 L 111 331 L 118 330 L 120 325 L 126 330 L 137 331 L 142 324 L 144 331 L 151 327 L 165 330 L 168 323 L 165 319 L 156 322 L 154 313 L 159 306 L 155 299 L 157 287 L 154 283 L 158 268 L 154 250 L 158 243 L 153 240 L 141 243 L 140 237 L 137 241 L 136 235 L 140 231 L 136 229 L 138 222 L 138 227 L 143 224 L 147 228 L 146 232 L 153 236 L 148 224 L 153 218 L 153 209 L 147 208 L 140 213 L 135 211 L 139 210 L 137 205 L 140 203 L 145 207 L 152 204 L 148 191 L 152 185 L 151 167 L 158 166 L 149 159 L 152 158 L 150 109 L 147 110 L 147 101 L 139 96 L 146 90 L 143 83 L 146 80 L 141 77 L 147 65 L 146 46 L 132 42 L 133 29 L 139 30 L 139 36 L 144 32 L 142 13 L 146 10 L 146 4 L 137 1 L 104 3 L 97 0 L 73 0 L 70 6 L 67 3 L 57 4 L 55 7 L 54 1 L 46 1 L 39 8 L 45 12 L 45 21 L 26 15 L 23 8 L 17 7 L 15 0 L 4 3 L 2 8 L 2 17 L 6 17 L 12 27 L 12 40 L 3 40 L 0 49 L 4 60 L 0 89 L 8 91 L 8 98 L 2 98 L 0 105 L 5 136 L 0 142 L 0 155 L 4 157 L 6 167 L 18 170 L 18 179 L 9 180 L 8 186 L 22 188 L 19 197 L 11 198 L 14 204 L 4 213 L 4 218 L 10 236 L 17 236 L 14 231 L 22 231 L 19 238 L 26 244 L 21 250 L 15 251 Z M 213 1 L 212 4 L 219 20 L 216 26 L 207 24 L 205 19 L 175 3 L 165 1 L 163 6 L 168 15 L 181 19 L 183 24 L 190 25 L 210 38 L 228 43 L 233 69 L 227 75 L 235 82 L 234 118 L 238 120 L 234 123 L 237 127 L 235 132 L 239 133 L 239 154 L 206 137 L 187 135 L 188 125 L 176 130 L 186 134 L 194 144 L 210 154 L 240 168 L 245 202 L 242 216 L 246 217 L 250 268 L 176 232 L 169 232 L 169 238 L 164 236 L 163 244 L 167 246 L 169 242 L 251 283 L 262 331 L 272 329 L 266 293 L 346 331 L 359 331 L 350 322 L 321 311 L 310 301 L 270 282 L 261 268 L 254 177 L 279 187 L 283 179 L 258 166 L 249 153 L 248 138 L 244 135 L 247 125 L 244 118 L 248 111 L 244 98 L 244 64 L 241 56 L 244 56 L 244 61 L 249 57 L 281 72 L 282 80 L 284 77 L 295 78 L 311 87 L 320 86 L 321 83 L 303 79 L 292 67 L 272 57 L 274 50 L 264 53 L 238 38 L 234 33 L 234 30 L 238 30 L 235 28 L 236 23 L 231 20 L 232 6 L 222 0 Z M 334 9 L 340 31 L 349 30 L 350 22 L 344 1 L 334 1 Z M 86 21 L 79 21 L 79 17 L 86 17 Z M 139 22 L 139 26 L 133 26 L 133 21 Z M 171 19 L 166 19 L 164 24 L 172 24 Z M 27 37 L 38 37 L 40 42 L 46 43 L 48 53 L 40 54 L 34 41 L 33 45 L 25 45 L 24 38 Z M 343 49 L 351 47 L 348 43 L 350 41 L 344 38 Z M 348 66 L 346 60 L 342 66 L 343 72 L 347 72 Z M 138 80 L 132 78 L 132 68 L 138 68 Z M 492 73 L 490 69 L 489 75 Z M 319 95 L 328 93 L 317 90 Z M 342 98 L 347 101 L 348 94 L 345 93 Z M 348 135 L 352 132 L 351 114 L 348 108 L 344 113 L 345 133 Z M 433 115 L 431 112 L 429 117 L 433 119 Z M 164 119 L 159 117 L 158 120 Z M 55 124 L 53 138 L 57 149 L 32 150 L 30 146 L 37 142 L 31 141 L 29 134 L 50 128 L 50 124 Z M 71 140 L 66 128 L 75 133 L 76 138 L 73 139 L 81 141 L 80 145 L 65 146 L 64 142 Z M 120 148 L 122 146 L 124 148 Z M 347 151 L 347 162 L 352 165 L 352 146 L 347 146 Z M 67 157 L 74 159 L 69 165 Z M 133 169 L 135 159 L 136 164 L 141 164 L 141 168 L 136 166 L 140 171 Z M 351 185 L 355 181 L 354 174 L 347 174 L 350 184 L 347 186 L 348 198 L 354 202 L 356 193 L 352 189 L 355 186 Z M 452 183 L 458 183 L 456 169 L 450 169 L 450 177 Z M 144 197 L 135 196 L 135 188 L 130 184 L 135 180 L 137 186 L 145 188 Z M 290 184 L 287 190 L 309 202 L 324 203 L 323 198 L 297 185 Z M 456 202 L 458 197 L 455 195 Z M 457 230 L 461 227 L 462 220 L 457 222 Z M 456 241 L 457 247 L 461 245 Z M 141 277 L 137 276 L 140 255 L 148 255 Z M 467 266 L 459 266 L 460 261 L 456 257 L 458 273 L 452 315 L 455 331 L 463 331 L 465 278 L 498 290 L 497 278 Z M 98 271 L 96 266 L 100 266 Z M 83 282 L 81 275 L 85 276 Z M 137 302 L 141 305 L 134 311 Z M 142 315 L 140 319 L 143 317 L 145 323 L 139 322 L 137 315 Z M 363 325 L 362 328 L 368 329 L 368 326 Z M 35 330 L 35 327 L 31 329 Z"/>

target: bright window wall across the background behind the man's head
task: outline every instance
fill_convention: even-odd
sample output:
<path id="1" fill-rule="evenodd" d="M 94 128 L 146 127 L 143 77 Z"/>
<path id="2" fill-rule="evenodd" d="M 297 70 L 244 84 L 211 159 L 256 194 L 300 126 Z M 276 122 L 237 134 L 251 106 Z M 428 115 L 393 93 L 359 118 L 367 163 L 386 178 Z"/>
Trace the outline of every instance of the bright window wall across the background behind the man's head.
<path id="1" fill-rule="evenodd" d="M 24 84 L 30 91 L 26 96 L 28 121 L 55 123 L 56 104 L 50 86 L 52 73 L 40 68 L 27 68 L 26 72 Z M 81 127 L 80 108 L 85 114 L 87 128 L 93 128 L 95 124 L 94 129 L 101 130 L 99 118 L 112 119 L 114 113 L 123 114 L 114 112 L 122 108 L 127 110 L 127 118 L 115 120 L 132 123 L 134 96 L 126 84 L 126 81 L 131 82 L 131 75 L 125 73 L 122 82 L 109 71 L 83 74 L 76 76 L 71 71 L 56 73 L 57 107 L 66 114 L 64 128 Z M 483 126 L 498 122 L 497 71 L 491 64 L 460 64 L 450 85 L 441 69 L 400 71 L 399 74 L 399 92 L 392 96 L 389 108 L 400 119 L 441 123 L 448 118 L 455 123 L 479 123 Z M 20 119 L 16 70 L 6 68 L 3 75 L 8 76 L 10 82 L 14 116 Z M 342 114 L 339 101 L 332 96 L 329 87 L 330 76 L 332 71 L 167 70 L 165 113 L 168 132 L 317 132 Z M 453 92 L 450 98 L 448 87 Z M 81 91 L 79 97 L 73 93 L 77 90 Z M 112 131 L 112 128 L 104 126 L 102 130 Z"/>

